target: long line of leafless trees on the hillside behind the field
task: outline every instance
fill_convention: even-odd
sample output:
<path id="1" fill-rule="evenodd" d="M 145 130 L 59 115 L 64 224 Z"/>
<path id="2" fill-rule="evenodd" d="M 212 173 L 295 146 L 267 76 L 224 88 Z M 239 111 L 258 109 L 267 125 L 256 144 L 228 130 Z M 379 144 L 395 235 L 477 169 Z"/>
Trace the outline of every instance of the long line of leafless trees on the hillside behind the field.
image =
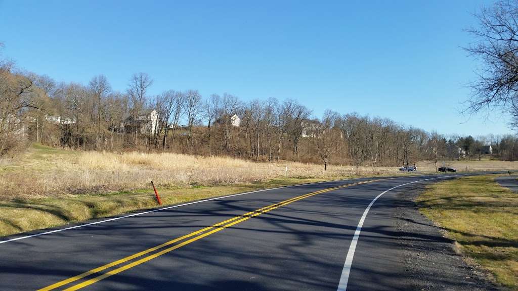
<path id="1" fill-rule="evenodd" d="M 197 90 L 151 95 L 152 85 L 153 79 L 141 72 L 128 78 L 122 92 L 113 90 L 103 75 L 88 84 L 57 83 L 3 60 L 0 153 L 41 142 L 82 150 L 170 151 L 375 168 L 424 159 L 480 158 L 482 148 L 492 144 L 493 156 L 518 157 L 513 136 L 446 137 L 357 113 L 326 110 L 315 118 L 294 99 L 243 101 L 227 93 L 203 97 Z M 150 123 L 152 110 L 156 114 Z M 130 117 L 136 123 L 125 126 Z"/>

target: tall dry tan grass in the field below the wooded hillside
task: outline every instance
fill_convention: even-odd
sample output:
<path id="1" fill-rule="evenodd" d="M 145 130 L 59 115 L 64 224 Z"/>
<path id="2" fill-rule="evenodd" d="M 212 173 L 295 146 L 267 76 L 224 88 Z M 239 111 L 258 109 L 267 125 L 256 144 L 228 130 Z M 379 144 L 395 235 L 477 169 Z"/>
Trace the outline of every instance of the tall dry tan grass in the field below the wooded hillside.
<path id="1" fill-rule="evenodd" d="M 164 187 L 225 185 L 262 182 L 283 178 L 285 167 L 291 178 L 334 178 L 352 176 L 351 166 L 330 166 L 297 162 L 255 163 L 220 156 L 174 153 L 76 152 L 36 153 L 24 164 L 4 165 L 0 171 L 0 198 L 62 196 L 148 187 L 153 180 Z M 361 167 L 361 174 L 372 174 Z M 375 168 L 376 174 L 394 174 L 397 168 Z"/>

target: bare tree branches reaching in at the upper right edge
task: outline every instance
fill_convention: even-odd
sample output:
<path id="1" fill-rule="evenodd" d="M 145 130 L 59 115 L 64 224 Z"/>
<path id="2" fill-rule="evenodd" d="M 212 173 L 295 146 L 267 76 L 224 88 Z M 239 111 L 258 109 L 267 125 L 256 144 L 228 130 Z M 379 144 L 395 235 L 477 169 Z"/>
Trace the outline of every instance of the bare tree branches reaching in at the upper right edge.
<path id="1" fill-rule="evenodd" d="M 468 30 L 476 42 L 466 48 L 482 61 L 478 81 L 471 84 L 473 95 L 468 109 L 477 112 L 487 107 L 500 107 L 518 116 L 518 4 L 499 1 L 483 8 L 476 18 L 480 26 Z M 516 120 L 516 119 L 515 119 Z M 516 126 L 516 122 L 513 123 Z"/>

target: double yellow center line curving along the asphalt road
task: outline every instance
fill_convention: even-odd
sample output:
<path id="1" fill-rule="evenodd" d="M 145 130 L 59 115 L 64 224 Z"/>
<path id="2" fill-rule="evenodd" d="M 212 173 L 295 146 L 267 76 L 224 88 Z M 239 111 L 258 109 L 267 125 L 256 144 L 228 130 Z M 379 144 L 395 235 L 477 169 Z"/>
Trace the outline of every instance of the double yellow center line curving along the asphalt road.
<path id="1" fill-rule="evenodd" d="M 394 179 L 394 178 L 389 178 L 389 179 Z M 314 195 L 317 195 L 317 194 L 321 194 L 321 193 L 324 193 L 324 192 L 329 192 L 329 191 L 337 190 L 337 189 L 340 189 L 340 188 L 350 187 L 350 186 L 359 185 L 359 184 L 372 183 L 372 182 L 381 181 L 381 180 L 388 180 L 388 179 L 377 179 L 377 180 L 369 180 L 369 181 L 364 181 L 364 182 L 358 182 L 358 183 L 354 183 L 354 184 L 346 184 L 346 185 L 341 185 L 341 186 L 338 186 L 338 187 L 327 188 L 327 189 L 324 189 L 324 190 L 308 193 L 308 194 L 305 194 L 305 195 L 300 195 L 300 196 L 297 196 L 297 197 L 294 197 L 294 198 L 291 198 L 291 199 L 287 199 L 287 200 L 284 200 L 284 201 L 281 201 L 281 202 L 278 202 L 278 203 L 275 203 L 275 204 L 272 204 L 272 205 L 269 205 L 269 206 L 266 206 L 266 207 L 263 207 L 263 208 L 260 208 L 260 209 L 248 212 L 248 213 L 244 213 L 242 215 L 233 217 L 232 219 L 228 219 L 228 220 L 222 221 L 222 222 L 214 224 L 212 226 L 196 230 L 194 232 L 191 232 L 188 235 L 176 238 L 174 240 L 170 240 L 168 242 L 165 242 L 163 244 L 154 246 L 153 248 L 147 249 L 145 251 L 138 252 L 138 253 L 133 254 L 131 256 L 127 256 L 127 257 L 124 257 L 122 259 L 119 259 L 119 260 L 116 260 L 116 261 L 112 261 L 109 264 L 97 267 L 97 268 L 92 269 L 90 271 L 87 271 L 87 272 L 81 273 L 79 275 L 76 275 L 74 277 L 68 278 L 66 280 L 54 283 L 52 285 L 49 285 L 49 286 L 41 288 L 41 289 L 38 289 L 38 291 L 54 290 L 55 288 L 59 288 L 61 286 L 64 286 L 64 285 L 76 282 L 76 281 L 81 280 L 81 279 L 83 279 L 85 277 L 89 277 L 91 275 L 94 275 L 96 273 L 99 273 L 101 271 L 109 269 L 111 267 L 115 267 L 115 266 L 120 265 L 122 263 L 126 263 L 127 261 L 133 260 L 133 259 L 141 257 L 143 255 L 147 255 L 147 254 L 152 253 L 154 251 L 163 249 L 166 246 L 172 245 L 172 246 L 169 246 L 169 248 L 161 250 L 160 252 L 156 252 L 156 253 L 150 254 L 148 256 L 142 257 L 142 258 L 140 258 L 138 260 L 135 260 L 135 261 L 133 261 L 133 262 L 131 262 L 129 264 L 126 264 L 126 265 L 123 265 L 121 267 L 112 269 L 112 270 L 110 270 L 110 271 L 108 271 L 106 273 L 98 275 L 97 277 L 88 279 L 88 280 L 86 280 L 84 282 L 78 283 L 76 285 L 73 285 L 73 286 L 68 287 L 68 288 L 65 289 L 66 291 L 77 290 L 77 289 L 86 287 L 88 285 L 91 285 L 91 284 L 93 284 L 95 282 L 98 282 L 100 280 L 106 279 L 106 278 L 108 278 L 108 277 L 110 277 L 112 275 L 115 275 L 115 274 L 118 274 L 120 272 L 123 272 L 123 271 L 125 271 L 127 269 L 130 269 L 130 268 L 133 268 L 133 267 L 138 266 L 140 264 L 146 263 L 147 261 L 149 261 L 151 259 L 154 259 L 156 257 L 159 257 L 159 256 L 163 255 L 163 254 L 166 254 L 166 253 L 169 253 L 171 251 L 174 251 L 176 249 L 179 249 L 182 246 L 190 244 L 193 241 L 197 241 L 197 240 L 202 239 L 202 238 L 204 238 L 206 236 L 210 236 L 211 234 L 214 234 L 215 232 L 221 231 L 221 230 L 223 230 L 223 229 L 225 229 L 227 227 L 231 227 L 231 226 L 236 225 L 238 223 L 241 223 L 243 221 L 249 220 L 249 219 L 251 219 L 254 216 L 261 215 L 263 213 L 266 213 L 268 211 L 274 210 L 274 209 L 279 208 L 281 206 L 285 206 L 285 205 L 288 205 L 288 204 L 293 203 L 295 201 L 298 201 L 298 200 L 301 200 L 301 199 L 305 199 L 305 198 L 308 198 L 308 197 L 311 197 L 311 196 L 314 196 Z M 185 239 L 188 239 L 188 240 L 185 240 Z M 183 241 L 183 240 L 185 240 L 185 241 Z M 180 242 L 180 241 L 182 241 L 182 242 Z M 175 244 L 177 242 L 180 242 L 180 243 Z"/>

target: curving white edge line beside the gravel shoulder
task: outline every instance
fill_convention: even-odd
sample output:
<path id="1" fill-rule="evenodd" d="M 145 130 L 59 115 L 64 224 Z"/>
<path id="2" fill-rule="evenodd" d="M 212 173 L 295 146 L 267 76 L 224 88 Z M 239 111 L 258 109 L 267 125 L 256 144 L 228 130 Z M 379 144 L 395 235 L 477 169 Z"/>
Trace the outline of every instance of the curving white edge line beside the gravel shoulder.
<path id="1" fill-rule="evenodd" d="M 369 203 L 369 206 L 367 206 L 367 208 L 363 212 L 362 218 L 359 220 L 358 226 L 356 227 L 356 231 L 354 231 L 354 237 L 353 237 L 353 240 L 351 241 L 351 245 L 349 246 L 349 251 L 347 252 L 346 262 L 343 264 L 342 275 L 340 276 L 340 283 L 338 283 L 337 291 L 347 291 L 347 282 L 349 281 L 349 273 L 351 272 L 351 266 L 352 266 L 353 258 L 354 258 L 354 251 L 356 251 L 356 243 L 358 242 L 359 234 L 362 231 L 363 223 L 365 222 L 367 213 L 369 213 L 370 208 L 372 207 L 374 202 L 376 202 L 376 200 L 378 200 L 378 198 L 380 198 L 383 194 L 385 194 L 391 190 L 394 190 L 395 188 L 399 188 L 401 186 L 405 186 L 408 184 L 419 183 L 419 182 L 423 182 L 423 181 L 427 181 L 427 180 L 434 180 L 434 179 L 448 178 L 448 177 L 459 177 L 459 176 L 466 176 L 466 175 L 463 174 L 463 175 L 455 175 L 455 176 L 435 177 L 435 178 L 423 179 L 423 180 L 419 180 L 419 181 L 413 181 L 410 183 L 397 185 L 395 187 L 390 188 L 389 190 L 384 191 L 380 195 L 376 196 L 376 198 L 372 199 L 372 201 L 370 201 L 370 203 Z"/>

